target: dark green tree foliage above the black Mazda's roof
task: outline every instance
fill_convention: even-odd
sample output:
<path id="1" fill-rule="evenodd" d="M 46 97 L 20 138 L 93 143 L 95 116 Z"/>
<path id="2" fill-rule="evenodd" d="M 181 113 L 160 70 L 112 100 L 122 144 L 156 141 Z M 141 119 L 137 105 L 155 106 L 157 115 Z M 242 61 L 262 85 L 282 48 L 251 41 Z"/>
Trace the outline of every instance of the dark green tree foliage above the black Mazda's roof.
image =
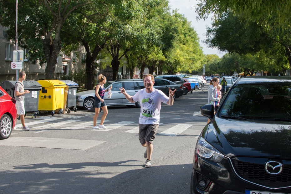
<path id="1" fill-rule="evenodd" d="M 281 31 L 280 33 L 278 33 Z M 278 35 L 280 34 L 280 35 Z M 223 14 L 212 28 L 207 28 L 207 39 L 205 43 L 211 48 L 218 48 L 220 51 L 228 53 L 237 53 L 245 58 L 252 56 L 255 64 L 260 63 L 261 70 L 269 69 L 271 73 L 278 74 L 288 69 L 287 63 L 291 64 L 290 41 L 288 29 L 280 30 L 272 28 L 265 31 L 257 23 L 244 25 L 244 20 L 239 16 L 229 12 Z M 287 57 L 286 57 L 286 56 Z M 258 61 L 260 60 L 260 61 Z M 241 68 L 247 72 L 253 72 L 254 69 L 247 66 Z"/>

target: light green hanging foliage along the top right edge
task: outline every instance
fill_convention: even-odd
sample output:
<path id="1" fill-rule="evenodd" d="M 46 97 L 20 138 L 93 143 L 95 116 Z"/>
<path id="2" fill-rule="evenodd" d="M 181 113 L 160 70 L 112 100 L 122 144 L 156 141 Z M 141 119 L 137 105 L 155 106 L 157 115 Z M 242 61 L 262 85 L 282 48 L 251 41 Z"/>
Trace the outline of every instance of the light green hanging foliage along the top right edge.
<path id="1" fill-rule="evenodd" d="M 197 19 L 205 19 L 211 13 L 220 17 L 229 11 L 240 15 L 247 21 L 258 23 L 260 26 L 288 28 L 290 26 L 291 1 L 267 0 L 200 0 L 195 8 Z"/>

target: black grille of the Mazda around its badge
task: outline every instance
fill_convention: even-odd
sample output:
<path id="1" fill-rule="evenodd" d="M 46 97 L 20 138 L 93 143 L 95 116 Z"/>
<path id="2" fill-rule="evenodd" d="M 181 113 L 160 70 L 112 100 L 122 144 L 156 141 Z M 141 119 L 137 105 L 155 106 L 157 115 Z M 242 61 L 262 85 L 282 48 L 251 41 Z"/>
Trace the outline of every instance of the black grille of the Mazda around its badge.
<path id="1" fill-rule="evenodd" d="M 237 174 L 250 182 L 270 188 L 291 186 L 291 165 L 283 165 L 280 174 L 271 175 L 265 171 L 265 165 L 242 162 L 232 159 Z"/>

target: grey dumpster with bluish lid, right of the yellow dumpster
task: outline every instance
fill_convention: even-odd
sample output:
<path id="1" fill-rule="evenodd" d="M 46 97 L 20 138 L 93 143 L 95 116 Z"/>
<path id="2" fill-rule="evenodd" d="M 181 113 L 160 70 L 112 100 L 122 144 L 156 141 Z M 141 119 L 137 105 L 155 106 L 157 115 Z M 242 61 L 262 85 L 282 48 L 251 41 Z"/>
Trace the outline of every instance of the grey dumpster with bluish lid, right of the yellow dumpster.
<path id="1" fill-rule="evenodd" d="M 66 85 L 69 86 L 67 105 L 66 105 L 67 113 L 71 112 L 70 108 L 72 108 L 72 107 L 73 107 L 74 112 L 77 112 L 77 108 L 76 108 L 77 96 L 76 96 L 76 94 L 77 94 L 77 88 L 79 87 L 79 85 L 71 80 L 61 80 L 61 81 L 66 83 Z"/>

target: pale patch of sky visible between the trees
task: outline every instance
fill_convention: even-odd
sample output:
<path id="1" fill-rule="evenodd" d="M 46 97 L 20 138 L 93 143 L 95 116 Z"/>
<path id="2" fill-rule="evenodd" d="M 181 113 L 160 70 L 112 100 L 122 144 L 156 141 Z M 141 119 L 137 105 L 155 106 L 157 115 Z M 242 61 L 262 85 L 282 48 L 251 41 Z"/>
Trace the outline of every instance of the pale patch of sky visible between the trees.
<path id="1" fill-rule="evenodd" d="M 206 44 L 202 41 L 206 39 L 206 27 L 211 27 L 211 16 L 204 20 L 196 20 L 196 13 L 195 13 L 195 5 L 199 2 L 197 0 L 169 0 L 172 9 L 178 9 L 178 12 L 184 15 L 191 21 L 192 27 L 194 27 L 195 31 L 197 32 L 200 38 L 200 46 L 202 46 L 202 50 L 204 54 L 217 54 L 219 57 L 222 57 L 225 52 L 219 52 L 216 48 L 208 48 Z M 192 10 L 191 10 L 192 7 Z"/>

